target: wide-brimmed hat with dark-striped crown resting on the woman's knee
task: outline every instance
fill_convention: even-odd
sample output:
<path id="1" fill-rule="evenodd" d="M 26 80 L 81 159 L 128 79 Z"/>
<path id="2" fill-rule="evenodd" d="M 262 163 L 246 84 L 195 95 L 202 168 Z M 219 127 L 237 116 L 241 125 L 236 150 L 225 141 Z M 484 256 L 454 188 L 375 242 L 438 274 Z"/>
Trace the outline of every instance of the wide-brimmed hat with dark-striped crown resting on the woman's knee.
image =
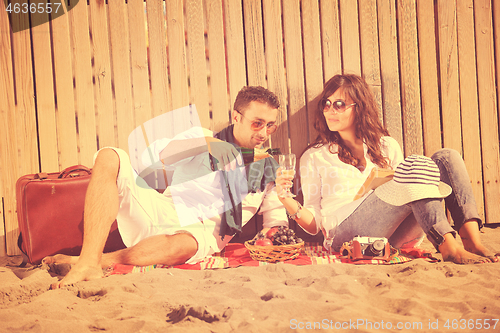
<path id="1" fill-rule="evenodd" d="M 439 168 L 428 157 L 408 156 L 394 171 L 394 177 L 375 189 L 375 194 L 393 206 L 426 198 L 445 198 L 451 187 L 439 180 Z"/>

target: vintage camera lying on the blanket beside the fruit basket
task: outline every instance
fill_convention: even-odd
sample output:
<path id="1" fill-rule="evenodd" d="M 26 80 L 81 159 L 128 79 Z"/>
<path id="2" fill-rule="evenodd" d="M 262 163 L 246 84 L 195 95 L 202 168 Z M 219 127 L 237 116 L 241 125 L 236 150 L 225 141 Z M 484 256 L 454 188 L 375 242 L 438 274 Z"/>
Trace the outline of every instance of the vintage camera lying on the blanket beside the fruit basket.
<path id="1" fill-rule="evenodd" d="M 350 259 L 383 259 L 388 260 L 391 246 L 385 237 L 355 236 L 340 248 L 340 254 Z"/>

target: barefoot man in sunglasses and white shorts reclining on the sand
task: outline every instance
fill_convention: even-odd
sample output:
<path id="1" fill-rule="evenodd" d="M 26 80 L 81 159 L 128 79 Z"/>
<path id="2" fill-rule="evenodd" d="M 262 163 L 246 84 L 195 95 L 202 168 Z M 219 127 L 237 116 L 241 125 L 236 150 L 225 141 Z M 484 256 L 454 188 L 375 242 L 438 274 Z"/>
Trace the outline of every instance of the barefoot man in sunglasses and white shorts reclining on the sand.
<path id="1" fill-rule="evenodd" d="M 147 188 L 137 179 L 123 150 L 101 149 L 96 154 L 85 198 L 84 239 L 80 257 L 55 255 L 44 259 L 47 264 L 74 264 L 71 271 L 52 288 L 100 278 L 102 268 L 113 263 L 138 266 L 196 263 L 222 250 L 229 242 L 234 233 L 222 229 L 234 230 L 234 224 L 233 221 L 226 221 L 227 218 L 239 214 L 241 225 L 244 225 L 259 208 L 264 216 L 264 227 L 287 225 L 286 211 L 278 200 L 274 181 L 260 179 L 261 186 L 236 186 L 235 189 L 227 178 L 231 175 L 229 171 L 236 168 L 235 164 L 238 161 L 241 163 L 241 156 L 234 145 L 260 148 L 276 130 L 278 108 L 277 97 L 267 89 L 245 87 L 234 103 L 231 113 L 233 125 L 215 137 L 207 130 L 203 131 L 204 138 L 192 134 L 196 131 L 187 131 L 189 133 L 181 135 L 181 138 L 155 142 L 149 152 L 159 156 L 166 165 L 177 167 L 172 191 L 167 188 L 165 194 Z M 215 163 L 210 163 L 208 153 L 214 157 Z M 212 172 L 212 168 L 225 171 Z M 197 176 L 186 178 L 191 171 Z M 174 193 L 178 190 L 177 184 L 180 184 L 180 195 Z M 227 191 L 224 184 L 229 188 Z M 244 188 L 243 191 L 238 187 Z M 239 194 L 246 195 L 241 198 L 241 205 L 232 198 L 233 207 L 229 207 L 232 211 L 227 214 L 227 200 L 224 200 L 227 198 L 219 197 L 227 195 L 231 189 L 236 198 Z M 179 198 L 181 201 L 189 200 L 190 197 L 200 201 L 208 197 L 220 200 L 217 205 L 208 202 L 200 204 L 202 208 L 191 206 L 192 209 L 185 210 L 186 214 L 180 213 L 176 208 L 188 205 L 177 205 L 174 201 Z M 192 211 L 195 211 L 194 215 L 189 213 Z M 199 220 L 196 221 L 196 218 Z M 115 219 L 127 248 L 103 254 L 110 226 Z"/>

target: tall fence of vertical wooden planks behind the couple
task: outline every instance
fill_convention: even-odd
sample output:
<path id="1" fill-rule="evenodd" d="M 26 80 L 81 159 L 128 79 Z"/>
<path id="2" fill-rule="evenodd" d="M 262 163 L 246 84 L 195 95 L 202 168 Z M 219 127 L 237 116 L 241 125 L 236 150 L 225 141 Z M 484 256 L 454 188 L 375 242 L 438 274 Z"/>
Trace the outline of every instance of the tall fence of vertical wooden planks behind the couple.
<path id="1" fill-rule="evenodd" d="M 21 175 L 91 166 L 188 104 L 220 130 L 245 85 L 278 95 L 271 144 L 300 154 L 323 83 L 342 72 L 369 82 L 405 155 L 458 150 L 481 216 L 500 222 L 499 1 L 65 0 L 66 14 L 31 22 L 4 7 L 27 2 L 0 4 L 0 255 L 19 254 Z"/>

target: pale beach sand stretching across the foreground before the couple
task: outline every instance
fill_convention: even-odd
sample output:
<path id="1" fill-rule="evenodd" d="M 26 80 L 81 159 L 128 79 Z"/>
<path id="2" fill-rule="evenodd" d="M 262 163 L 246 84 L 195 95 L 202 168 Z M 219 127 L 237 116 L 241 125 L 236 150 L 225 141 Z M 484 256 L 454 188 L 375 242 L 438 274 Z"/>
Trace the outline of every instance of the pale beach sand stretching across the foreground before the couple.
<path id="1" fill-rule="evenodd" d="M 50 290 L 60 277 L 20 261 L 0 258 L 1 332 L 500 331 L 500 264 L 156 269 Z"/>

